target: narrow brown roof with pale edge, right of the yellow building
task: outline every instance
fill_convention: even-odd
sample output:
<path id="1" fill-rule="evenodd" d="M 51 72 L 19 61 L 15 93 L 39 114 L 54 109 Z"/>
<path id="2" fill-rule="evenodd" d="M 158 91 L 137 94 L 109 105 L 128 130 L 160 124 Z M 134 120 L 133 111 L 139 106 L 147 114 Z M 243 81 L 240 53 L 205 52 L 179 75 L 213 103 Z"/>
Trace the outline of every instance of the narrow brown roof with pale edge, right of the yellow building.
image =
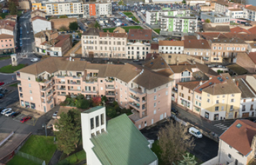
<path id="1" fill-rule="evenodd" d="M 256 98 L 256 94 L 248 86 L 247 81 L 240 78 L 240 79 L 236 79 L 236 83 L 238 83 L 238 88 L 242 92 L 241 98 Z"/>

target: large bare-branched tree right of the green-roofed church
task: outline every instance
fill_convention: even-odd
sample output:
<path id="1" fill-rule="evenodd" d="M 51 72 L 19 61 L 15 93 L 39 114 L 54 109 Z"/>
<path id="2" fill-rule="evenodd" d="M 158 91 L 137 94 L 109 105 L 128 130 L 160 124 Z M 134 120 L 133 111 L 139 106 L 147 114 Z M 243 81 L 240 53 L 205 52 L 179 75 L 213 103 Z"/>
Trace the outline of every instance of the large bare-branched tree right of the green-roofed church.
<path id="1" fill-rule="evenodd" d="M 183 154 L 193 149 L 194 141 L 187 133 L 187 127 L 180 123 L 170 122 L 158 132 L 158 145 L 161 149 L 161 158 L 166 164 L 177 163 L 183 160 Z"/>

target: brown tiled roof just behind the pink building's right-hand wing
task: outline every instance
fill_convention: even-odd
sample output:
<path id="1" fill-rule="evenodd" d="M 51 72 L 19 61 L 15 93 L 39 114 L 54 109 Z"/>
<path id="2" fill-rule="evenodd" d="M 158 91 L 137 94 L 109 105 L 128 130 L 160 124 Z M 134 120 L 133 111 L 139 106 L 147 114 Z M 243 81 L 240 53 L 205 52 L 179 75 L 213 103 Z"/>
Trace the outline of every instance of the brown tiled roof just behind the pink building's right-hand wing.
<path id="1" fill-rule="evenodd" d="M 157 57 L 156 59 L 152 59 L 147 63 L 144 63 L 143 66 L 153 70 L 154 69 L 170 69 L 170 67 L 162 57 Z"/>

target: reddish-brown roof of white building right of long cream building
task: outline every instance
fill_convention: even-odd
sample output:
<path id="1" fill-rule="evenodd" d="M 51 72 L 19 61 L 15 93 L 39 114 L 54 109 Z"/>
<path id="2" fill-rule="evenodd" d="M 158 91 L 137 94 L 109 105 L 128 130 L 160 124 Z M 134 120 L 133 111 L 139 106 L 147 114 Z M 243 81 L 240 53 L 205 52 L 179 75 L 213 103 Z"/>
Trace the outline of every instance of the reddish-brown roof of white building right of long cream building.
<path id="1" fill-rule="evenodd" d="M 130 29 L 129 40 L 152 40 L 152 30 L 149 29 Z"/>

